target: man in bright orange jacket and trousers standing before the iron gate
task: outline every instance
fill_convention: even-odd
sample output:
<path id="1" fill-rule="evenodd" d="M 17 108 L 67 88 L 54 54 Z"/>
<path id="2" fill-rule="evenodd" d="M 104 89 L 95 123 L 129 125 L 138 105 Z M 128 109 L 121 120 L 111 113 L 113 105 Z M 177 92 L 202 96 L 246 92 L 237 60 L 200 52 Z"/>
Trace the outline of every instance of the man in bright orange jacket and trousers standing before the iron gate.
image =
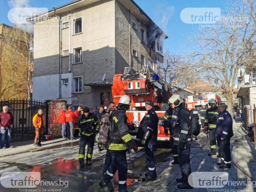
<path id="1" fill-rule="evenodd" d="M 41 139 L 44 133 L 45 116 L 43 115 L 43 109 L 38 109 L 37 114 L 33 117 L 33 125 L 35 127 L 36 136 L 34 141 L 35 147 L 41 147 Z"/>

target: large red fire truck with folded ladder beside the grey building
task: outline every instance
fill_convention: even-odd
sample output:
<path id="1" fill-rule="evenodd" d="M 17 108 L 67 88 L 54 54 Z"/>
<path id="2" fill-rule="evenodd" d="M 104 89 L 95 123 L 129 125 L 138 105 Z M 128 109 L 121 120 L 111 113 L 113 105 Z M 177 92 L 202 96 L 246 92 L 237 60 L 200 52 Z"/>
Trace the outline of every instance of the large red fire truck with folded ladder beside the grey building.
<path id="1" fill-rule="evenodd" d="M 116 74 L 113 77 L 112 97 L 115 103 L 123 95 L 128 95 L 131 99 L 130 110 L 126 112 L 129 122 L 136 124 L 136 130 L 132 137 L 136 138 L 136 133 L 140 121 L 145 116 L 145 102 L 153 100 L 156 113 L 159 118 L 158 137 L 159 141 L 169 141 L 170 136 L 164 134 L 164 128 L 160 126 L 163 121 L 165 110 L 163 103 L 167 103 L 171 96 L 171 87 L 148 65 L 144 65 L 140 71 L 131 67 L 126 67 L 124 74 Z M 135 107 L 137 111 L 131 109 Z"/>

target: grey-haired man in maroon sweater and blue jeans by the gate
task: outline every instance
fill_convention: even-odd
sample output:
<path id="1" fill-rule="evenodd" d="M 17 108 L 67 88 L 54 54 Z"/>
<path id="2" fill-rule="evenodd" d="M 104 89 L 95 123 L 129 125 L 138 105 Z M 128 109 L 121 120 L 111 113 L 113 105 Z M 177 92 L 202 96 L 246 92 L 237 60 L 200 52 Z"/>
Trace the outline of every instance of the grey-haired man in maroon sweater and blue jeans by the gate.
<path id="1" fill-rule="evenodd" d="M 1 128 L 1 148 L 12 148 L 10 146 L 12 126 L 14 118 L 11 112 L 8 112 L 8 106 L 3 107 L 3 112 L 0 113 L 0 128 Z M 6 147 L 4 147 L 6 137 Z"/>

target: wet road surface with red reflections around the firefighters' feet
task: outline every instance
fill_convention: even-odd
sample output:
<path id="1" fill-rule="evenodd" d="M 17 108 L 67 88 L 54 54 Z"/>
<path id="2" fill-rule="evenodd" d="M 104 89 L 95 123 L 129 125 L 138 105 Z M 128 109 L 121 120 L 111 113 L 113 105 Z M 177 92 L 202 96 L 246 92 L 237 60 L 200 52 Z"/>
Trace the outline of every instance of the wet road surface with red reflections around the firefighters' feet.
<path id="1" fill-rule="evenodd" d="M 41 184 L 31 189 L 41 189 L 41 191 L 54 191 L 54 189 L 57 189 L 57 191 L 62 192 L 100 192 L 102 190 L 99 188 L 98 183 L 103 177 L 106 150 L 99 152 L 98 145 L 95 143 L 92 165 L 85 165 L 84 168 L 80 168 L 78 145 L 77 140 L 73 143 L 49 147 L 44 150 L 33 150 L 18 155 L 2 157 L 0 159 L 0 175 L 4 172 L 40 172 Z M 165 162 L 165 158 L 170 154 L 171 149 L 166 143 L 156 146 L 154 150 L 156 164 Z M 127 162 L 127 185 L 130 185 L 148 170 L 144 148 L 139 147 L 136 154 L 127 153 Z M 113 188 L 117 191 L 117 173 L 111 182 Z M 1 192 L 20 192 L 20 189 L 4 188 L 0 185 Z"/>

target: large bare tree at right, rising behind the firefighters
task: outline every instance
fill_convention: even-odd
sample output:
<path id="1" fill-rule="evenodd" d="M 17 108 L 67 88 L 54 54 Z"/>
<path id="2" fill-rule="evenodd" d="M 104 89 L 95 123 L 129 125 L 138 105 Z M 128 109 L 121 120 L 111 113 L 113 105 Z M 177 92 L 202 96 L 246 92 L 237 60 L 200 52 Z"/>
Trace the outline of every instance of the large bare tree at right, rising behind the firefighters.
<path id="1" fill-rule="evenodd" d="M 227 12 L 214 26 L 198 28 L 188 35 L 193 46 L 193 67 L 212 84 L 220 86 L 232 112 L 232 92 L 239 68 L 248 60 L 247 50 L 255 44 L 256 0 L 230 1 Z"/>

